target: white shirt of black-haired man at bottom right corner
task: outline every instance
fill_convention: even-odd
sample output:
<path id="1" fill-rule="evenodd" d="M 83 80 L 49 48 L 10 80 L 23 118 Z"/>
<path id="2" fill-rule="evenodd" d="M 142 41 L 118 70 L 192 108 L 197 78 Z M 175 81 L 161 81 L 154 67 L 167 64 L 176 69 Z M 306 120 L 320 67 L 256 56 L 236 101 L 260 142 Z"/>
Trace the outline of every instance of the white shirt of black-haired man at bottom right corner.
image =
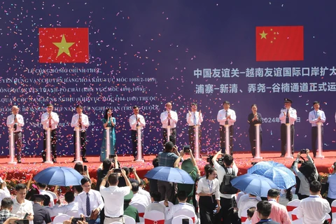
<path id="1" fill-rule="evenodd" d="M 296 216 L 302 218 L 303 224 L 321 224 L 325 220 L 325 214 L 331 211 L 329 202 L 318 195 L 304 198 L 297 209 Z"/>

